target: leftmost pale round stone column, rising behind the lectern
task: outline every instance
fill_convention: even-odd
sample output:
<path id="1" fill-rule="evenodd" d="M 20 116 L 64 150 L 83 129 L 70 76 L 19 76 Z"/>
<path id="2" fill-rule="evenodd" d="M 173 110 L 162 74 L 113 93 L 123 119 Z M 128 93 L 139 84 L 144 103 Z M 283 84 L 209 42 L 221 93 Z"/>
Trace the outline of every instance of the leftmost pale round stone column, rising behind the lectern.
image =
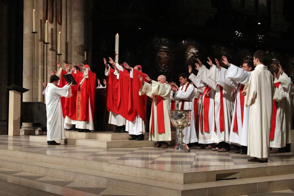
<path id="1" fill-rule="evenodd" d="M 33 9 L 34 9 L 34 0 L 24 1 L 24 46 L 23 46 L 23 87 L 29 89 L 29 91 L 23 94 L 23 102 L 32 102 L 34 101 L 33 91 L 34 91 L 34 64 L 33 64 L 33 43 L 34 36 L 31 33 L 33 30 L 32 19 L 33 19 Z M 24 132 L 33 132 L 34 129 L 31 126 L 31 123 L 23 123 L 21 127 L 21 135 Z"/>

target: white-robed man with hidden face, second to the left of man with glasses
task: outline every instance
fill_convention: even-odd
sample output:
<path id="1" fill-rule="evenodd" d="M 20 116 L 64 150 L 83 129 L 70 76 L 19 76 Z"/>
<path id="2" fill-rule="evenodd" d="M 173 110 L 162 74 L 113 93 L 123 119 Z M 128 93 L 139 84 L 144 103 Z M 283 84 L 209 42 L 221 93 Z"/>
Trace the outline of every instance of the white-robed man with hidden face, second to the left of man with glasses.
<path id="1" fill-rule="evenodd" d="M 198 133 L 198 143 L 204 144 L 204 149 L 212 149 L 214 147 L 213 142 L 211 141 L 211 133 L 215 131 L 215 121 L 214 121 L 214 95 L 215 90 L 211 86 L 207 85 L 201 79 L 196 77 L 192 72 L 191 65 L 189 68 L 189 79 L 197 87 L 198 93 L 201 93 L 200 96 L 200 107 L 199 111 L 199 133 Z M 204 68 L 204 67 L 203 67 Z M 199 71 L 200 67 L 196 67 Z M 205 68 L 206 69 L 206 68 Z M 209 69 L 205 70 L 209 72 Z"/>

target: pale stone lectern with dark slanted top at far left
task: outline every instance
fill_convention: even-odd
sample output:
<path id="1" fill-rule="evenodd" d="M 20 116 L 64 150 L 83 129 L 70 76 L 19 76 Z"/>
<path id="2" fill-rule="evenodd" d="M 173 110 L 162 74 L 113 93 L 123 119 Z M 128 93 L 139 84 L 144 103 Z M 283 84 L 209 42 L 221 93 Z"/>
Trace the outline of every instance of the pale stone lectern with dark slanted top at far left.
<path id="1" fill-rule="evenodd" d="M 9 89 L 8 135 L 19 136 L 21 93 L 27 92 L 29 89 L 25 89 L 15 84 L 6 88 Z"/>

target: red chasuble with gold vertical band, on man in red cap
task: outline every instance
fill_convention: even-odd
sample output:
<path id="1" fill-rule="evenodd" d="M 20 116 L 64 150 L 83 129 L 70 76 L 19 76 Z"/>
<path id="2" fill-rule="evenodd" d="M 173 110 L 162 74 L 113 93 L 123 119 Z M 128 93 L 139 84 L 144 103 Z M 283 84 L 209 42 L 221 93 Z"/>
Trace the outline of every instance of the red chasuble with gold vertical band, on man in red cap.
<path id="1" fill-rule="evenodd" d="M 83 80 L 82 74 L 75 74 L 74 77 L 78 83 L 78 92 L 76 98 L 76 120 L 89 121 L 89 100 L 92 119 L 94 119 L 96 74 L 88 70 L 88 78 Z M 81 83 L 82 80 L 83 82 Z"/>

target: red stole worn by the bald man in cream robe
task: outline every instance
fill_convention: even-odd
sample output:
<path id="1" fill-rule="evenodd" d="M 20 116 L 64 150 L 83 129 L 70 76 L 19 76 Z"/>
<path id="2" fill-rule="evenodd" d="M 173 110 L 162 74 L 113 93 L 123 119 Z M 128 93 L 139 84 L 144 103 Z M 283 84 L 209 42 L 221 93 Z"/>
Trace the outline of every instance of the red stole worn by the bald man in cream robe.
<path id="1" fill-rule="evenodd" d="M 156 97 L 156 113 L 157 113 L 157 126 L 158 133 L 165 133 L 164 127 L 164 112 L 163 112 L 163 98 L 159 95 L 153 95 L 152 99 L 152 119 L 151 119 L 151 134 L 154 133 L 154 99 Z"/>

